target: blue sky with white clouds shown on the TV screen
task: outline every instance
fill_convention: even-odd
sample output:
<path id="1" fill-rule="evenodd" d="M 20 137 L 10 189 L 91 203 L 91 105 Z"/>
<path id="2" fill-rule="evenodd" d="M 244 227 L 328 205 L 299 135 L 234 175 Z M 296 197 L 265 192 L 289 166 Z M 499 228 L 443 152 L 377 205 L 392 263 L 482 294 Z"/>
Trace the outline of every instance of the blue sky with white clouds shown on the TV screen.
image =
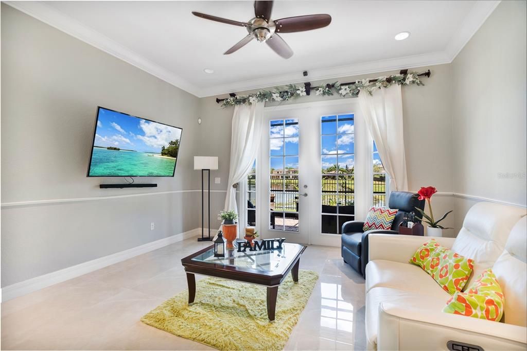
<path id="1" fill-rule="evenodd" d="M 99 109 L 95 130 L 96 146 L 160 153 L 161 147 L 180 138 L 179 128 Z"/>

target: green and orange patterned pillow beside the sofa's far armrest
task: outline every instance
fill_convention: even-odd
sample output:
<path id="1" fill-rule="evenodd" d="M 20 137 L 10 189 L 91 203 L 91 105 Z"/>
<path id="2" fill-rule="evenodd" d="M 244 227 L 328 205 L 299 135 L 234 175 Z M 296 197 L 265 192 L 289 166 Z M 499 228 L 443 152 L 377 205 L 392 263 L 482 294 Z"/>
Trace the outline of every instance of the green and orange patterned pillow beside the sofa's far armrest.
<path id="1" fill-rule="evenodd" d="M 474 268 L 472 259 L 458 255 L 435 239 L 419 247 L 409 262 L 421 267 L 450 295 L 463 289 Z"/>

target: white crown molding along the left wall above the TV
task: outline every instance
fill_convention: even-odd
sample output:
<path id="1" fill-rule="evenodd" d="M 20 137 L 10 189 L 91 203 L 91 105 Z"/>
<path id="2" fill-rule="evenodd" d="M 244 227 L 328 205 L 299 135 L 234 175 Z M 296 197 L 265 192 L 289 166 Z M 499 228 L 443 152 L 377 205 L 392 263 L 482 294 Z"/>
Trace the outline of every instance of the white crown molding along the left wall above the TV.
<path id="1" fill-rule="evenodd" d="M 59 31 L 69 34 L 99 50 L 123 60 L 137 67 L 138 69 L 150 73 L 159 79 L 198 96 L 199 89 L 188 81 L 182 79 L 177 74 L 164 69 L 163 67 L 147 60 L 138 53 L 113 41 L 109 37 L 101 34 L 92 28 L 86 27 L 75 19 L 57 11 L 55 8 L 46 5 L 41 1 L 4 1 L 5 4 L 16 8 L 39 21 L 42 21 Z"/>

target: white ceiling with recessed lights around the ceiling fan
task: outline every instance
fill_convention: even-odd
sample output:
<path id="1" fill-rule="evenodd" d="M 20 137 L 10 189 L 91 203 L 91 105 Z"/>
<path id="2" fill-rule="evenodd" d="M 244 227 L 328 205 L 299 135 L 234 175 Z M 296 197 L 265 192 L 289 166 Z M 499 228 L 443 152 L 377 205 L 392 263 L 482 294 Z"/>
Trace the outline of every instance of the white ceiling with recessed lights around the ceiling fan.
<path id="1" fill-rule="evenodd" d="M 41 21 L 197 95 L 448 63 L 498 1 L 275 1 L 272 18 L 328 13 L 319 30 L 282 34 L 285 60 L 250 42 L 243 27 L 207 21 L 198 11 L 247 21 L 252 1 L 7 2 Z M 409 31 L 404 41 L 394 35 Z M 206 74 L 203 69 L 213 69 Z M 302 71 L 309 71 L 309 77 Z"/>

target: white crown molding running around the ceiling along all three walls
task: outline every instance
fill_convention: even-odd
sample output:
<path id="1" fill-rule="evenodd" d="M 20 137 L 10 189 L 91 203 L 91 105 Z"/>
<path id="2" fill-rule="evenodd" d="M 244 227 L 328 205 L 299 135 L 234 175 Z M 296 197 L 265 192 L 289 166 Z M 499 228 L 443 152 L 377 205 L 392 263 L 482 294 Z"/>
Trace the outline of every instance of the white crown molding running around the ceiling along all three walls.
<path id="1" fill-rule="evenodd" d="M 259 79 L 246 80 L 241 82 L 220 84 L 210 87 L 199 88 L 190 82 L 182 79 L 177 74 L 164 69 L 163 67 L 147 60 L 141 55 L 133 52 L 129 48 L 111 40 L 109 37 L 92 30 L 89 27 L 75 21 L 73 18 L 60 11 L 37 1 L 6 1 L 5 3 L 19 11 L 22 11 L 36 19 L 51 25 L 58 30 L 69 34 L 87 44 L 95 46 L 112 56 L 138 67 L 140 70 L 148 72 L 159 79 L 170 83 L 180 89 L 187 91 L 198 98 L 207 96 L 221 95 L 230 92 L 245 90 L 262 89 L 269 86 L 284 85 L 289 83 L 303 83 L 307 81 L 335 79 L 345 76 L 360 74 L 370 74 L 378 72 L 393 71 L 399 69 L 412 69 L 438 64 L 451 63 L 458 53 L 463 49 L 470 38 L 479 30 L 481 25 L 494 11 L 501 1 L 476 1 L 463 24 L 458 28 L 456 34 L 451 38 L 444 51 L 391 58 L 388 60 L 372 61 L 329 67 L 326 69 L 310 70 L 309 78 L 302 76 L 301 73 L 290 73 L 262 77 Z"/>

